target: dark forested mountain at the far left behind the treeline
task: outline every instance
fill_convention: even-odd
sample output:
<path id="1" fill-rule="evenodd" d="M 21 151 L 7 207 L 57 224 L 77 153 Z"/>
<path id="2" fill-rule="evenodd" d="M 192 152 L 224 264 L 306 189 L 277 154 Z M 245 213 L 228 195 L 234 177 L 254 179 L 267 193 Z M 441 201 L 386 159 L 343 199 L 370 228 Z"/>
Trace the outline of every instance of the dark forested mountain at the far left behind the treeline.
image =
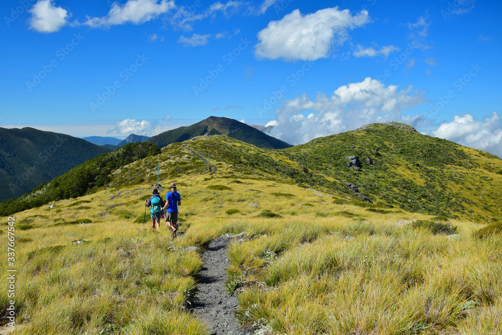
<path id="1" fill-rule="evenodd" d="M 34 128 L 0 128 L 0 201 L 31 192 L 107 148 Z"/>

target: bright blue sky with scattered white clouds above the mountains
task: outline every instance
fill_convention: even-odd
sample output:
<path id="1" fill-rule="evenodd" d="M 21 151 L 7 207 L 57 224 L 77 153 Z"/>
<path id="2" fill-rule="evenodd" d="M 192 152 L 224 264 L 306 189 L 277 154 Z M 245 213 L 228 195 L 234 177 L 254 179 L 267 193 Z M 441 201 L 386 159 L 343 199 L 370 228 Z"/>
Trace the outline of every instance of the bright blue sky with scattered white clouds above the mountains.
<path id="1" fill-rule="evenodd" d="M 398 121 L 502 155 L 495 1 L 4 1 L 0 126 L 156 135 L 209 116 L 292 144 Z"/>

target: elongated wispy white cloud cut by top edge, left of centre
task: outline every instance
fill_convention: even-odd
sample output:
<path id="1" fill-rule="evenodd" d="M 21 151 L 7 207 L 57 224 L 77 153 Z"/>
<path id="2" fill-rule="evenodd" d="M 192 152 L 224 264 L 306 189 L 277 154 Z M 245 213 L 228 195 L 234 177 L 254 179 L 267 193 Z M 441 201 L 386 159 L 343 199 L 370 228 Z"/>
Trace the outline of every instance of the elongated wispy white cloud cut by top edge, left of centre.
<path id="1" fill-rule="evenodd" d="M 108 28 L 125 23 L 140 25 L 175 8 L 174 1 L 161 0 L 160 3 L 157 3 L 157 0 L 128 0 L 123 5 L 113 3 L 110 11 L 104 17 L 87 17 L 84 25 L 91 28 Z"/>

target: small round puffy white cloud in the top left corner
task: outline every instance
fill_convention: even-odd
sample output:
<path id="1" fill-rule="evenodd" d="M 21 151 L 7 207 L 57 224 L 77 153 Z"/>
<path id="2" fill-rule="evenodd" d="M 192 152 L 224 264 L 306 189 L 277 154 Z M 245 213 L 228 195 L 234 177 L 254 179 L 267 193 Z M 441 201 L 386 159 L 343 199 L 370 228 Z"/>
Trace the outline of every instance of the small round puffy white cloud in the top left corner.
<path id="1" fill-rule="evenodd" d="M 28 11 L 32 14 L 30 28 L 39 33 L 54 33 L 66 24 L 68 12 L 55 7 L 51 0 L 40 0 Z"/>

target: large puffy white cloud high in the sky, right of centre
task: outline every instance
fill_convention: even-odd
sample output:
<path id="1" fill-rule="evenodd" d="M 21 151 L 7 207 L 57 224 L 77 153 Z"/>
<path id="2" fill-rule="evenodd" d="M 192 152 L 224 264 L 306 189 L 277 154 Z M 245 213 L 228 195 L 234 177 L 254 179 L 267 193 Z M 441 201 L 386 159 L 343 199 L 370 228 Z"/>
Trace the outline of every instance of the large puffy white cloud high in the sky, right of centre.
<path id="1" fill-rule="evenodd" d="M 333 45 L 342 45 L 348 32 L 369 21 L 368 12 L 352 16 L 338 7 L 302 15 L 299 10 L 272 21 L 258 33 L 255 55 L 259 58 L 316 60 L 328 57 Z"/>

